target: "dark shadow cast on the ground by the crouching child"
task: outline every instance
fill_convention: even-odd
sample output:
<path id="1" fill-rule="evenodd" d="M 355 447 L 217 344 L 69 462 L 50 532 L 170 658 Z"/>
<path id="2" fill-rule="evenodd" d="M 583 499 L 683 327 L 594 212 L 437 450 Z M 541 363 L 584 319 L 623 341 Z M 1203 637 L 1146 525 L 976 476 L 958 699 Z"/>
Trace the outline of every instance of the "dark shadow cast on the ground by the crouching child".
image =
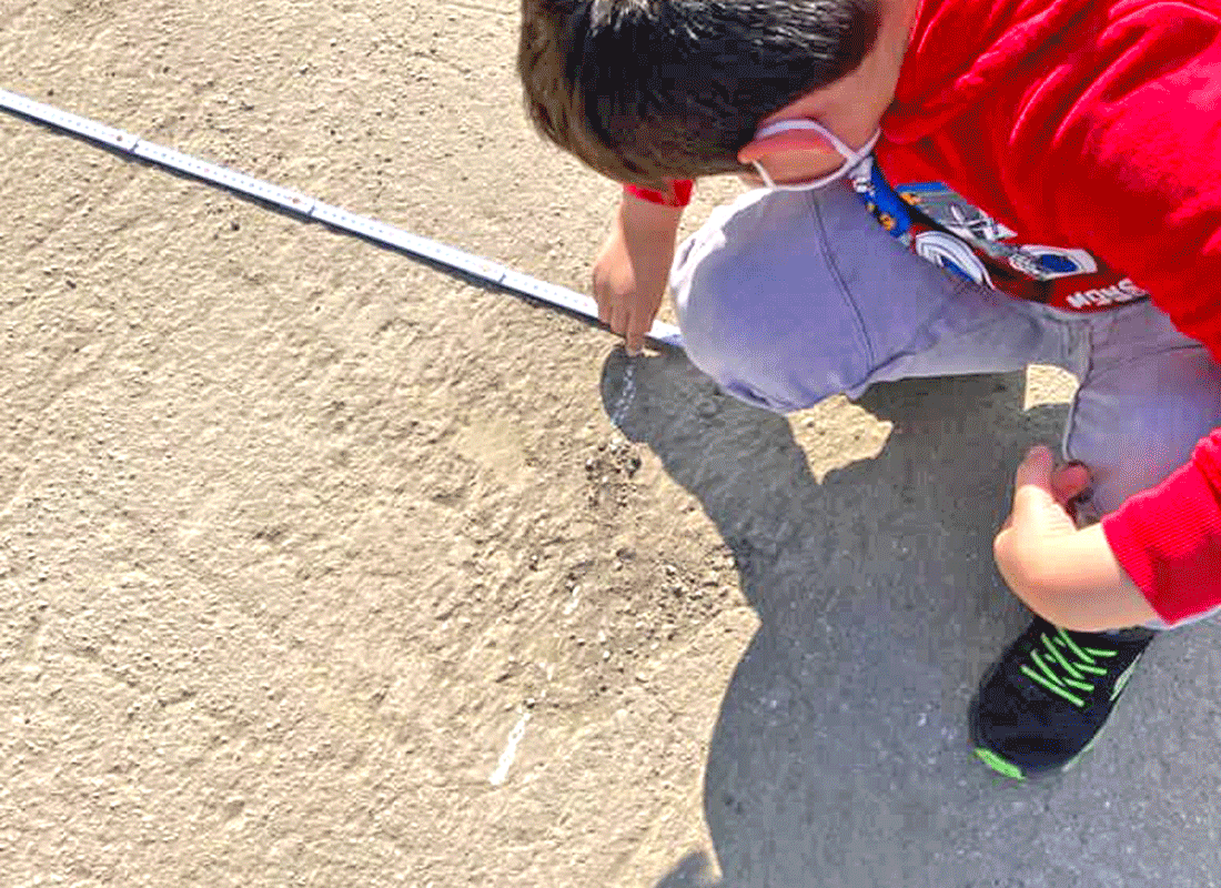
<path id="1" fill-rule="evenodd" d="M 979 675 L 1026 623 L 993 568 L 1012 468 L 1062 408 L 1023 379 L 872 388 L 883 451 L 812 476 L 789 423 L 680 354 L 608 359 L 603 398 L 731 547 L 761 628 L 709 741 L 700 854 L 656 888 L 1203 886 L 1221 878 L 1215 627 L 1161 639 L 1107 735 L 1035 784 L 972 756 Z"/>

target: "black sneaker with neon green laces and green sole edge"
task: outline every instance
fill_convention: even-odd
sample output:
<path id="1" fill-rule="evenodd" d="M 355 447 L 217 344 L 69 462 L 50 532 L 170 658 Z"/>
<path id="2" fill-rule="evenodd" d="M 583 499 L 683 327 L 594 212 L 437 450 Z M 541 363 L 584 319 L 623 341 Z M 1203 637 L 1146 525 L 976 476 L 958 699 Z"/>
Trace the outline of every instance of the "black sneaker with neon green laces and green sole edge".
<path id="1" fill-rule="evenodd" d="M 1035 617 L 971 701 L 976 755 L 1018 781 L 1074 765 L 1098 739 L 1156 634 L 1067 631 Z"/>

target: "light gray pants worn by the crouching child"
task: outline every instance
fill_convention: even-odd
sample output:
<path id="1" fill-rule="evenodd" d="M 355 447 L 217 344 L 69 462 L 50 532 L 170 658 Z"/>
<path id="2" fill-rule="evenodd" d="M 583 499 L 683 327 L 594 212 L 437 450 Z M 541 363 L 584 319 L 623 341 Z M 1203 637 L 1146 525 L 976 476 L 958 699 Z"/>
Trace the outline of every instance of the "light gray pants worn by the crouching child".
<path id="1" fill-rule="evenodd" d="M 1013 299 L 911 253 L 847 187 L 717 209 L 670 286 L 696 366 L 773 410 L 873 382 L 1063 368 L 1079 382 L 1063 456 L 1089 467 L 1096 514 L 1221 426 L 1221 366 L 1149 300 L 1077 314 Z"/>

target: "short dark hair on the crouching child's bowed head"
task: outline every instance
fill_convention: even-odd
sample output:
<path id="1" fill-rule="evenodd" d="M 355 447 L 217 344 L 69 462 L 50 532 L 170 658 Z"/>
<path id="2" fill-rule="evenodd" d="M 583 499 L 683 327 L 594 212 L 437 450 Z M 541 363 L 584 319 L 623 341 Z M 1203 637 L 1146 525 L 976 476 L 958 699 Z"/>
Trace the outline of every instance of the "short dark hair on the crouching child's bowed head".
<path id="1" fill-rule="evenodd" d="M 742 170 L 758 122 L 877 33 L 874 0 L 523 0 L 518 72 L 543 136 L 657 187 Z"/>

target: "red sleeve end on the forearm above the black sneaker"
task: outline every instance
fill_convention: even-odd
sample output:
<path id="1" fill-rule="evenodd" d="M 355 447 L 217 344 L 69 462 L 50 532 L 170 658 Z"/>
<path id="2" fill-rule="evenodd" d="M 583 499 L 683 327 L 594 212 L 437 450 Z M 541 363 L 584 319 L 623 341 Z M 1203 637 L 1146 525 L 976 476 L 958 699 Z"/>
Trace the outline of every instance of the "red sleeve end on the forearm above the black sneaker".
<path id="1" fill-rule="evenodd" d="M 1103 533 L 1166 623 L 1221 605 L 1221 430 L 1190 463 L 1106 515 Z"/>

